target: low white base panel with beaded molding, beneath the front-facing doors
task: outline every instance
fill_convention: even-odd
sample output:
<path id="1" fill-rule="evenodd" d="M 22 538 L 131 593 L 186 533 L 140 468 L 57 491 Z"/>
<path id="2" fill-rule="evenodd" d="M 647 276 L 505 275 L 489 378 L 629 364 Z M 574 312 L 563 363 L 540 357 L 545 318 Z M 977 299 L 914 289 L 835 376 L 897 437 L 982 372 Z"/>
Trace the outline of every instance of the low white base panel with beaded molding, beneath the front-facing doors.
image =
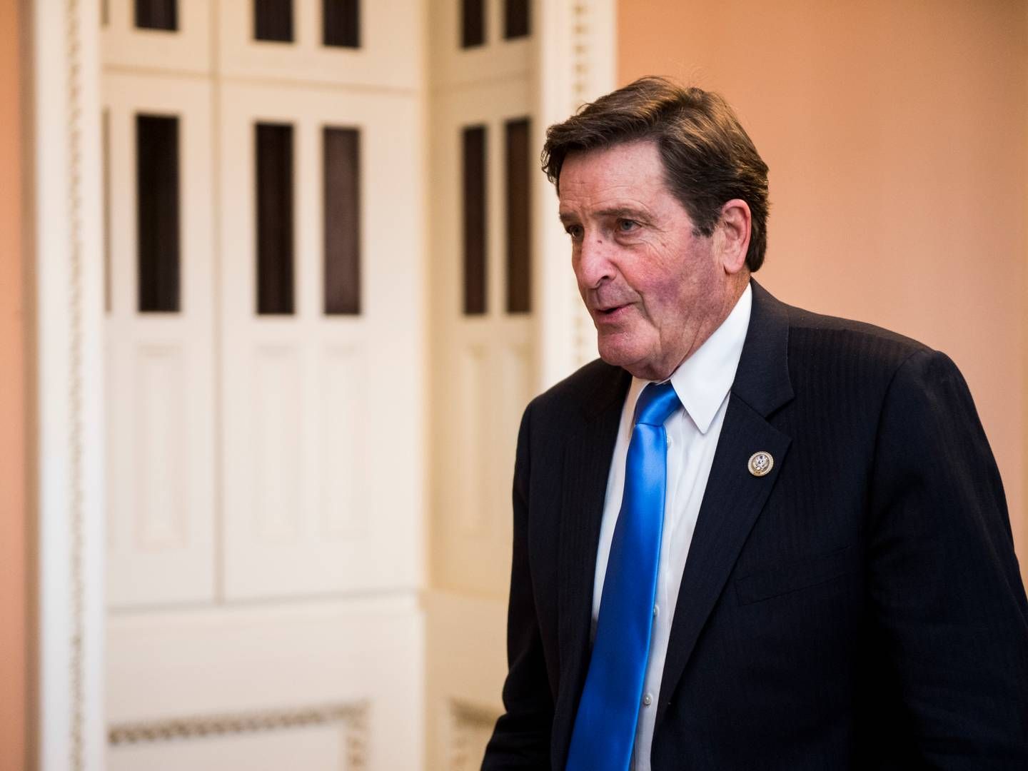
<path id="1" fill-rule="evenodd" d="M 114 616 L 111 767 L 418 768 L 423 623 L 401 594 Z"/>

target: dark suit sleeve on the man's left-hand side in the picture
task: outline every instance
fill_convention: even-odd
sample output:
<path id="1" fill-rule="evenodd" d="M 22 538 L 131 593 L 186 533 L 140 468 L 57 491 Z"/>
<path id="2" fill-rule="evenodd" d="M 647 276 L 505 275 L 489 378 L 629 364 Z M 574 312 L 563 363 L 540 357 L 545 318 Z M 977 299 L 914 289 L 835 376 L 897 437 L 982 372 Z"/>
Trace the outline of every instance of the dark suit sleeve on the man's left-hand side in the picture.
<path id="1" fill-rule="evenodd" d="M 507 616 L 505 713 L 497 721 L 482 771 L 550 768 L 553 698 L 546 675 L 528 564 L 531 405 L 521 418 L 514 467 L 514 547 Z"/>

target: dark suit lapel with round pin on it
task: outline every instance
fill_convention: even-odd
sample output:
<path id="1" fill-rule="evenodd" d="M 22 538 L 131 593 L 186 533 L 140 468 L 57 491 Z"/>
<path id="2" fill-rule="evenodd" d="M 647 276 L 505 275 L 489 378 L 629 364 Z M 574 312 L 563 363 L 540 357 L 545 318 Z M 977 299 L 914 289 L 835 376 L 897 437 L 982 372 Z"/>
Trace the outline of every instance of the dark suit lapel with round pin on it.
<path id="1" fill-rule="evenodd" d="M 746 341 L 678 588 L 657 726 L 786 462 L 791 439 L 766 418 L 793 398 L 787 361 L 788 315 L 785 305 L 757 282 L 751 286 L 754 304 Z M 769 452 L 774 464 L 770 473 L 756 477 L 749 473 L 748 462 L 760 450 Z"/>

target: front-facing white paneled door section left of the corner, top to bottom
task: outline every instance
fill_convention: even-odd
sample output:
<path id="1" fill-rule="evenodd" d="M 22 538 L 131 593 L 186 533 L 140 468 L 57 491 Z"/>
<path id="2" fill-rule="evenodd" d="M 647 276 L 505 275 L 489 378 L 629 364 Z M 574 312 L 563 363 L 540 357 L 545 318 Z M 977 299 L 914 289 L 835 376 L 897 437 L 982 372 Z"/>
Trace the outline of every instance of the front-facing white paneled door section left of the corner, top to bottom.
<path id="1" fill-rule="evenodd" d="M 420 0 L 108 0 L 108 768 L 423 756 Z"/>

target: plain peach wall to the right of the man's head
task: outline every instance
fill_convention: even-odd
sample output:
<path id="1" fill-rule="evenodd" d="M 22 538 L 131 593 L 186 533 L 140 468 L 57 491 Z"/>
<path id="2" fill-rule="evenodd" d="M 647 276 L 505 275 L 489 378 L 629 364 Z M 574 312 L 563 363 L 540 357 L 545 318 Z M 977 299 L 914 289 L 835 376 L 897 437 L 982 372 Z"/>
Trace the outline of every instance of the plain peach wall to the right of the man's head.
<path id="1" fill-rule="evenodd" d="M 945 351 L 1028 575 L 1028 14 L 1020 0 L 621 0 L 619 81 L 721 91 L 770 167 L 758 278 Z"/>

